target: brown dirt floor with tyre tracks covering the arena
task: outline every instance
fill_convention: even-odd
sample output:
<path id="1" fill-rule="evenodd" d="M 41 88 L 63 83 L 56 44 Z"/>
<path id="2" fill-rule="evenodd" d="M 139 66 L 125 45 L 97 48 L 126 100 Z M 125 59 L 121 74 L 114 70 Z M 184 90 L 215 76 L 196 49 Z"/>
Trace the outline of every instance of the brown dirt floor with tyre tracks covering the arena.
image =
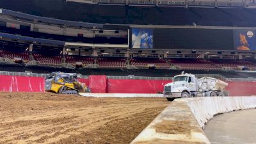
<path id="1" fill-rule="evenodd" d="M 0 93 L 0 143 L 130 143 L 170 102 Z"/>

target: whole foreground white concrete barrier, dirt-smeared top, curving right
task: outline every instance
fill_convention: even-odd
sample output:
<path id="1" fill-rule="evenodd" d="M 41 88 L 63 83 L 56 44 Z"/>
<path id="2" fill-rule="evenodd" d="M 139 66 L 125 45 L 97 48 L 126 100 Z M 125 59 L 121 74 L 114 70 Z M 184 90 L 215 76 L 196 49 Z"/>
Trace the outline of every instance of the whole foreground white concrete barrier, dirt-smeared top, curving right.
<path id="1" fill-rule="evenodd" d="M 210 143 L 202 131 L 214 115 L 256 108 L 256 97 L 175 99 L 131 144 Z"/>

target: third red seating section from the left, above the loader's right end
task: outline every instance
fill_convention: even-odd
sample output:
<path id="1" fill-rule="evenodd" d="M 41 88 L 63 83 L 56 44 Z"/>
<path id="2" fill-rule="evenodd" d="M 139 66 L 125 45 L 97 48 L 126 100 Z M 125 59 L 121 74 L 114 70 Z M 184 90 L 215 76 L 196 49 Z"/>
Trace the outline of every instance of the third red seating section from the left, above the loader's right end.
<path id="1" fill-rule="evenodd" d="M 72 65 L 76 65 L 76 62 L 83 63 L 83 66 L 92 65 L 93 58 L 92 57 L 82 57 L 82 56 L 66 56 L 66 62 Z"/>

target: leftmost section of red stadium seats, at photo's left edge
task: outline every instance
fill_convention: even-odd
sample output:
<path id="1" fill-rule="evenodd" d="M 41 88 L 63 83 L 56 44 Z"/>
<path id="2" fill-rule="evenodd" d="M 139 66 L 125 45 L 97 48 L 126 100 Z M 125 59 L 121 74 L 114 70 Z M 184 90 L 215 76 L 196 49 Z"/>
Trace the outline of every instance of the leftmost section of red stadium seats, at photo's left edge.
<path id="1" fill-rule="evenodd" d="M 13 51 L 0 50 L 0 57 L 9 58 L 12 60 L 14 58 L 22 58 L 24 62 L 29 61 L 29 54 L 26 52 L 13 52 Z"/>

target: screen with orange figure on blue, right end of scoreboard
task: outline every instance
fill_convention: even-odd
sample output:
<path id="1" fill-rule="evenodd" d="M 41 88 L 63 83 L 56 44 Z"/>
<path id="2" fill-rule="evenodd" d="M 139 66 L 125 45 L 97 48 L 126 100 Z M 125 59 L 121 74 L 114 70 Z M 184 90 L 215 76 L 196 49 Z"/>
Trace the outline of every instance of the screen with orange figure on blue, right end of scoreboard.
<path id="1" fill-rule="evenodd" d="M 256 50 L 255 30 L 234 30 L 236 50 Z"/>

